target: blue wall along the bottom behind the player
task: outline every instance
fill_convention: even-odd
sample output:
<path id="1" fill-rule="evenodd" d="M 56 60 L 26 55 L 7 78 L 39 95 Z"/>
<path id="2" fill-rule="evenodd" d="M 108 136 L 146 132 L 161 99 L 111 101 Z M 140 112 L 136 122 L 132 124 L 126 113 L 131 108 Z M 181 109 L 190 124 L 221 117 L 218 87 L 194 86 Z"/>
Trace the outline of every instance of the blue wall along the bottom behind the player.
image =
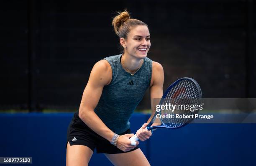
<path id="1" fill-rule="evenodd" d="M 66 163 L 67 126 L 72 113 L 0 114 L 0 157 L 32 157 L 35 166 Z M 133 114 L 135 132 L 148 115 Z M 256 124 L 189 124 L 156 130 L 140 147 L 152 166 L 252 166 L 256 163 Z M 95 153 L 90 166 L 112 166 Z"/>

